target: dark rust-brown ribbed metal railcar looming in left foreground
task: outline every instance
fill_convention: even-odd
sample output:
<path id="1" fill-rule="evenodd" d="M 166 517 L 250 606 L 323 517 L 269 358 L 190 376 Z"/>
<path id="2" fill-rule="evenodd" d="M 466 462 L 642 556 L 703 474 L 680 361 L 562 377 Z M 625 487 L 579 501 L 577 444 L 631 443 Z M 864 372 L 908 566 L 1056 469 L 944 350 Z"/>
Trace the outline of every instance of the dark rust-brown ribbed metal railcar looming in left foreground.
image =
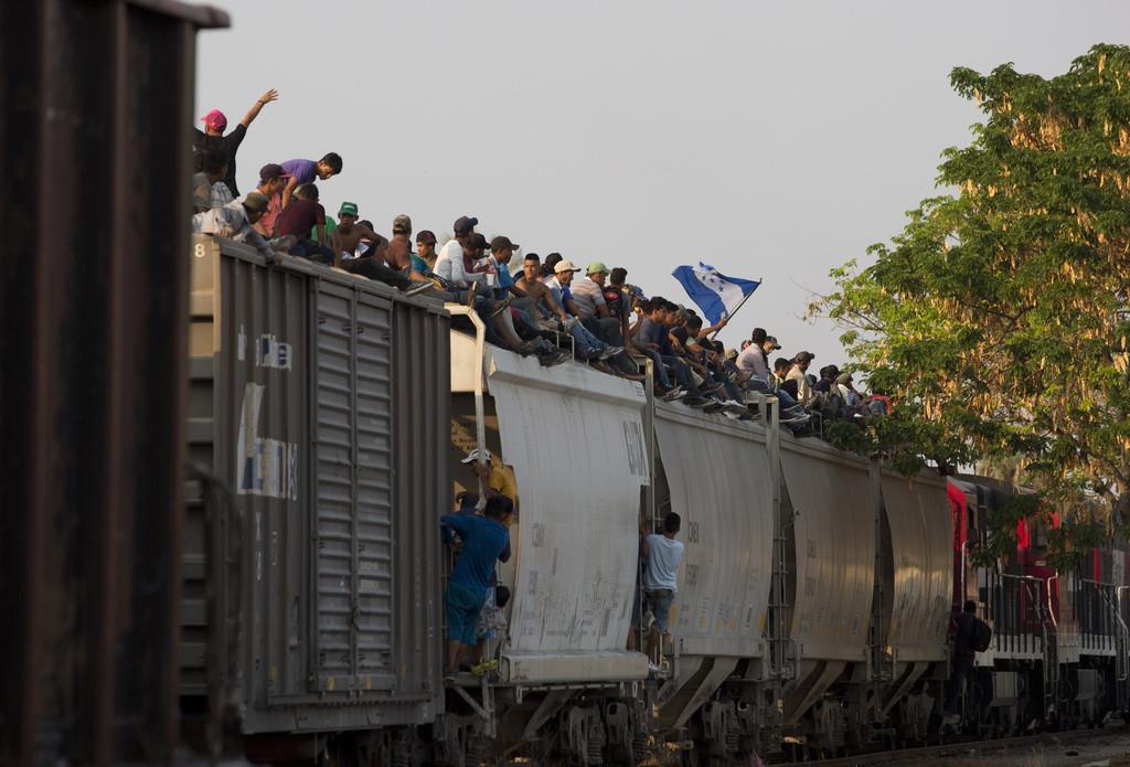
<path id="1" fill-rule="evenodd" d="M 201 24 L 0 3 L 0 762 L 171 756 Z"/>

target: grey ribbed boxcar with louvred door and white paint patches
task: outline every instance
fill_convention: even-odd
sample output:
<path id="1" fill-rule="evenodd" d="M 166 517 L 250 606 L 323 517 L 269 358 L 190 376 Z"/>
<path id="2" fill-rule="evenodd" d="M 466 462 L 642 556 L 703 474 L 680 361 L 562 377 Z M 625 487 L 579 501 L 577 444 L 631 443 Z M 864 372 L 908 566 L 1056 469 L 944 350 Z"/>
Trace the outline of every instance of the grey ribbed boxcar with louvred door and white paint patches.
<path id="1" fill-rule="evenodd" d="M 434 720 L 442 304 L 198 235 L 191 314 L 186 708 L 244 734 Z"/>

